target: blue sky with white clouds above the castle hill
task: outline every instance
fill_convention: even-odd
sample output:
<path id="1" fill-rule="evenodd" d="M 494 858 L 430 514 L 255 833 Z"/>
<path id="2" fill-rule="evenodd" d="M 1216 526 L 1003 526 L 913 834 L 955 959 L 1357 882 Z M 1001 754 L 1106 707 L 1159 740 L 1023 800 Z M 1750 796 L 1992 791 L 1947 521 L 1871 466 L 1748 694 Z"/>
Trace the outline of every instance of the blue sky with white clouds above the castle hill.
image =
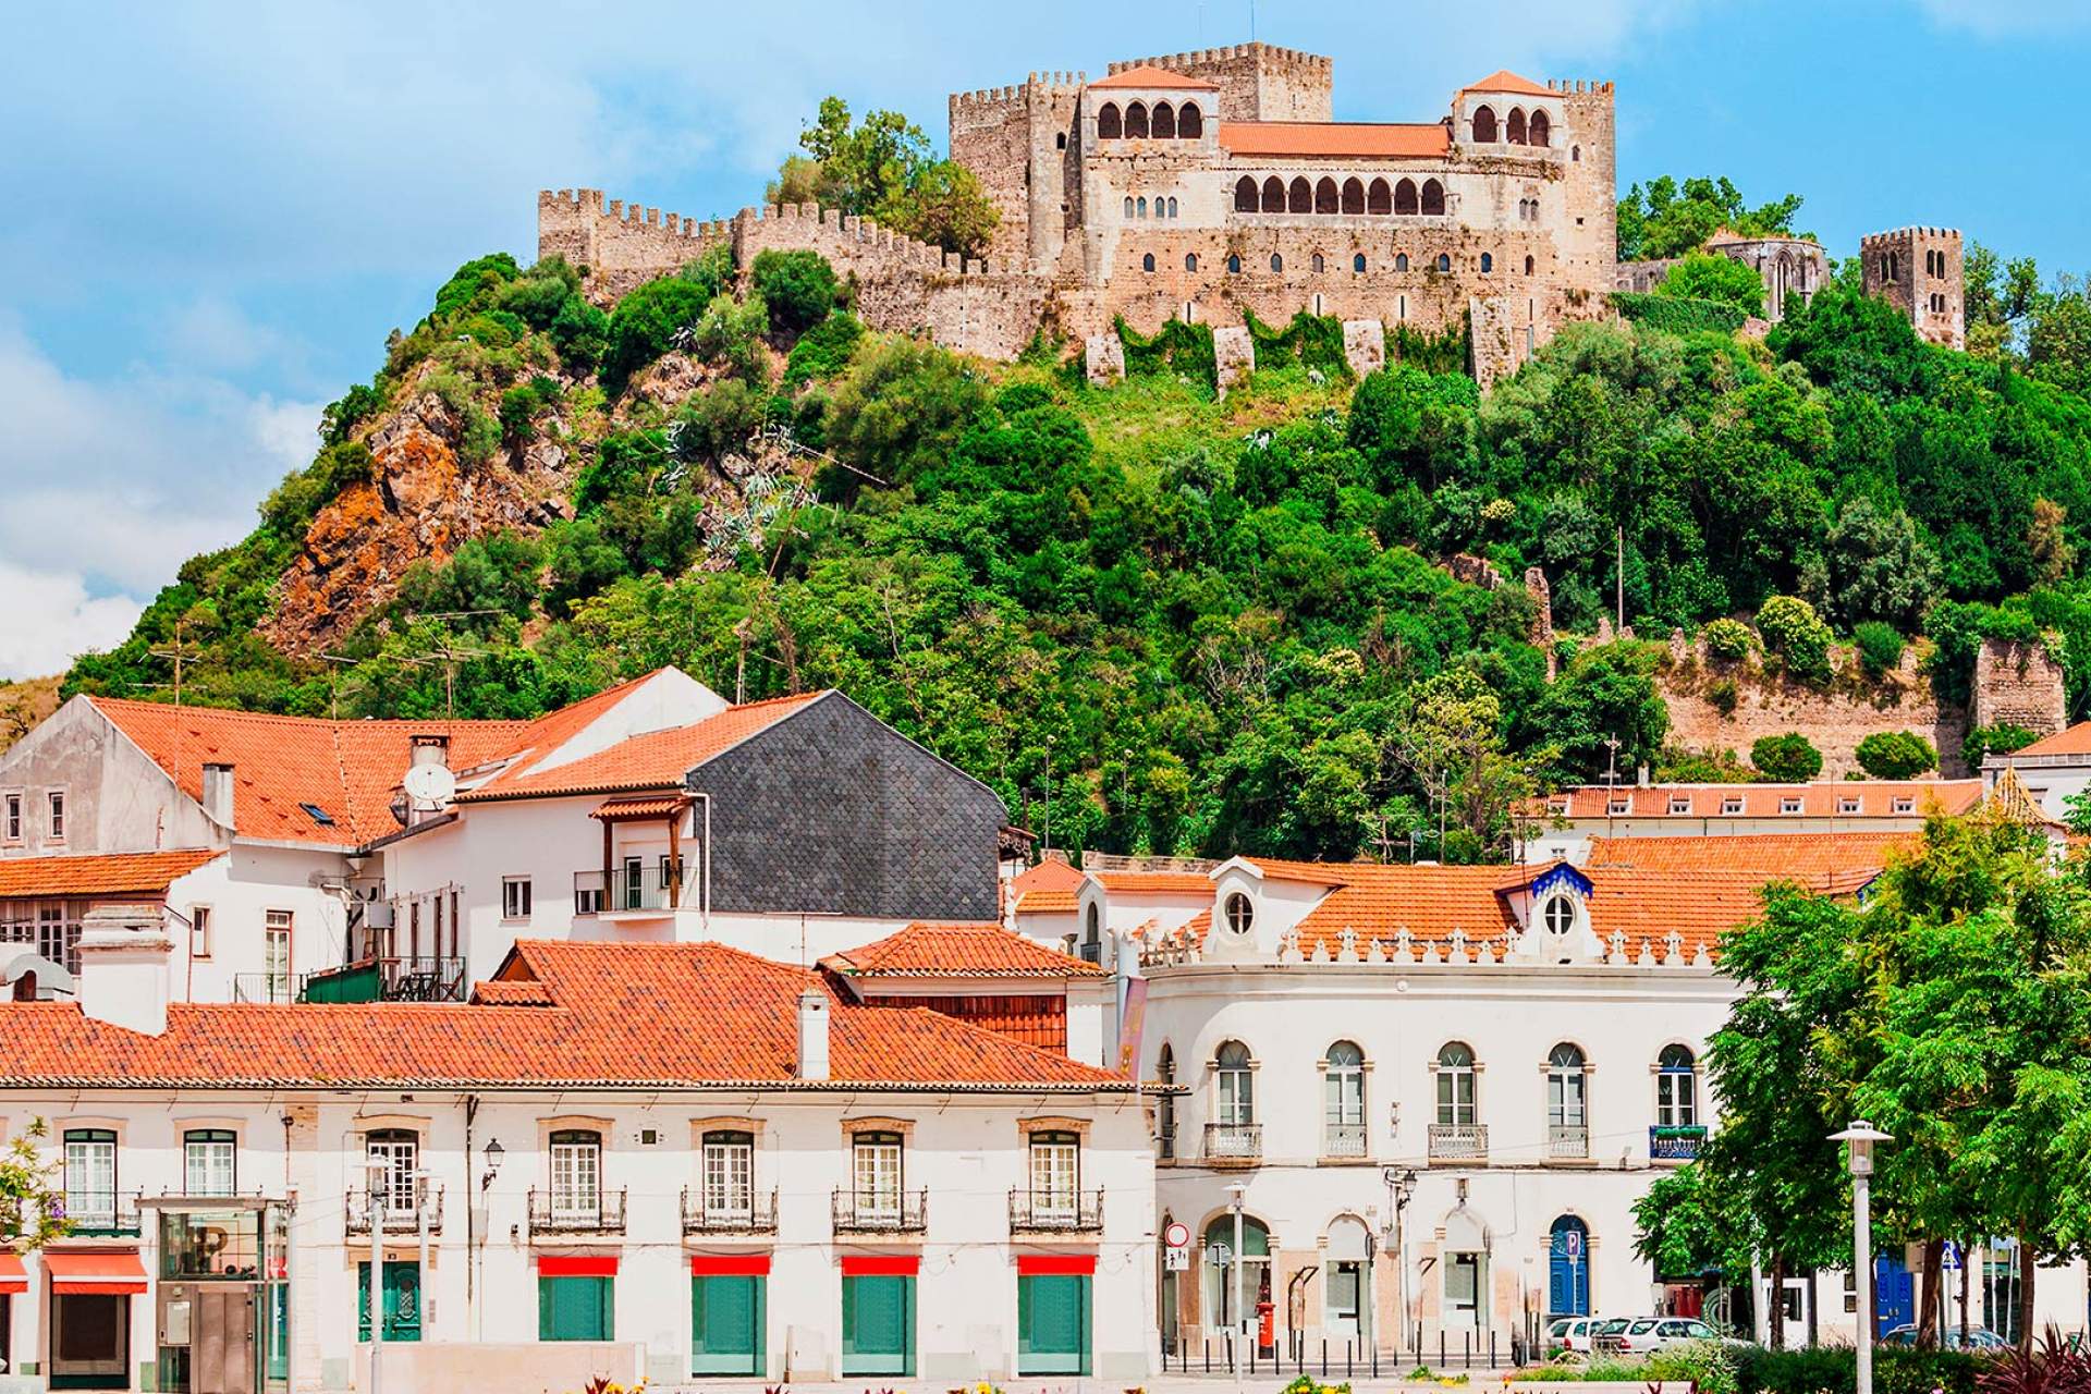
<path id="1" fill-rule="evenodd" d="M 1497 67 L 1618 84 L 1621 186 L 1807 196 L 1834 255 L 1959 226 L 2083 272 L 2091 0 L 1261 0 L 1336 115 L 1437 119 Z M 1248 38 L 1248 0 L 174 4 L 0 0 L 0 677 L 121 637 L 314 447 L 539 186 L 759 199 L 828 92 L 943 138 L 945 94 Z"/>

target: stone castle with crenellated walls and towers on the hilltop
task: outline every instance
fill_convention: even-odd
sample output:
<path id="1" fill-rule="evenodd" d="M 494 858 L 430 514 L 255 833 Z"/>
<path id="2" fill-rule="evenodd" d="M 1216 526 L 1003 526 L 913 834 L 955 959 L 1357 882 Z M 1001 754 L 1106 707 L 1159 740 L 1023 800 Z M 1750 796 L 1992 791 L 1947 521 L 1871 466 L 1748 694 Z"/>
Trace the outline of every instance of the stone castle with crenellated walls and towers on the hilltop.
<path id="1" fill-rule="evenodd" d="M 1616 263 L 1610 82 L 1499 71 L 1460 88 L 1443 115 L 1395 123 L 1334 121 L 1332 88 L 1326 56 L 1238 44 L 1112 63 L 1096 82 L 1033 73 L 953 94 L 951 159 L 1002 215 L 985 259 L 811 205 L 696 222 L 590 188 L 537 196 L 537 251 L 590 268 L 617 297 L 719 242 L 742 265 L 765 249 L 813 249 L 855 278 L 872 326 L 987 357 L 1014 357 L 1043 328 L 1085 341 L 1092 374 L 1123 364 L 1121 316 L 1140 332 L 1211 324 L 1223 376 L 1253 362 L 1248 316 L 1340 318 L 1361 370 L 1384 362 L 1391 328 L 1466 326 L 1483 385 L 1560 324 L 1606 318 L 1610 291 L 1667 272 L 1641 263 L 1635 278 Z M 1920 234 L 1886 236 L 1901 242 L 1880 251 L 1880 293 L 1955 341 L 1957 234 L 1922 249 Z M 1821 249 L 1798 247 L 1813 261 L 1794 249 L 1769 270 L 1759 261 L 1773 313 L 1788 291 L 1821 284 Z M 1936 284 L 1947 268 L 1951 291 Z"/>

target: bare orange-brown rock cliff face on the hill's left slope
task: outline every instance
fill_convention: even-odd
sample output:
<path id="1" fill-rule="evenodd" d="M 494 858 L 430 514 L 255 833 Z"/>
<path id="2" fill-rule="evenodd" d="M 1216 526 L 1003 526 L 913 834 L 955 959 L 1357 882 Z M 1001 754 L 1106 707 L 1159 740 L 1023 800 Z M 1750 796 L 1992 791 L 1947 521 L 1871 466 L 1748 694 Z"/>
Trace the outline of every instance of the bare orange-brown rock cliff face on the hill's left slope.
<path id="1" fill-rule="evenodd" d="M 565 516 L 577 451 L 542 439 L 462 458 L 462 420 L 420 393 L 364 437 L 374 477 L 345 487 L 305 531 L 305 545 L 276 587 L 261 633 L 293 656 L 312 656 L 391 600 L 418 560 L 443 562 L 470 537 L 535 531 Z"/>

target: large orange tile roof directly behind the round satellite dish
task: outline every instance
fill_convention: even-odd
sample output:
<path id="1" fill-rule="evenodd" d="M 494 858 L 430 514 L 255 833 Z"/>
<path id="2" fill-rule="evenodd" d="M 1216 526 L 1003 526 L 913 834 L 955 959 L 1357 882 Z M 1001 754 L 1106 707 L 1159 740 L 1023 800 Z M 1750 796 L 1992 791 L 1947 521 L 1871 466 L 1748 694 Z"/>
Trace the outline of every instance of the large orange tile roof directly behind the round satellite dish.
<path id="1" fill-rule="evenodd" d="M 322 721 L 215 706 L 88 698 L 182 792 L 203 798 L 203 767 L 232 765 L 232 823 L 243 838 L 360 846 L 399 832 L 391 796 L 414 736 L 447 736 L 464 769 L 508 750 L 523 721 Z M 303 805 L 320 809 L 330 823 Z"/>

